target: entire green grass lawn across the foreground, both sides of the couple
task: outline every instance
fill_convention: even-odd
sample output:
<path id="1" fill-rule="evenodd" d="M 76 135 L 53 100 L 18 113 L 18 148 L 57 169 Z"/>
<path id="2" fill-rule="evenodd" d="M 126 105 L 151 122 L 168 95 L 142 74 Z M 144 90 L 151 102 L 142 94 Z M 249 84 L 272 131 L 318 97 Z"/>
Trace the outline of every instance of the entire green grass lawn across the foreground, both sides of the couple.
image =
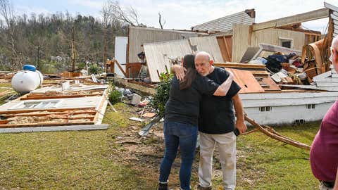
<path id="1" fill-rule="evenodd" d="M 163 139 L 151 136 L 141 144 L 118 144 L 122 133 L 132 129 L 130 126 L 140 129 L 142 124 L 128 120 L 133 115 L 131 106 L 117 103 L 115 108 L 119 113 L 106 113 L 108 130 L 0 134 L 0 189 L 156 189 L 161 156 L 154 156 L 153 160 L 137 157 L 137 163 L 126 162 L 125 157 L 128 147 L 141 145 L 159 146 L 158 154 L 163 155 Z M 315 122 L 275 129 L 311 144 L 319 125 Z M 268 139 L 261 132 L 237 139 L 237 158 L 237 189 L 318 186 L 311 173 L 309 151 Z M 195 162 L 193 186 L 197 184 L 197 165 Z M 174 165 L 175 178 L 179 166 Z M 215 159 L 215 170 L 219 169 Z M 220 177 L 213 182 L 214 189 L 220 189 Z"/>

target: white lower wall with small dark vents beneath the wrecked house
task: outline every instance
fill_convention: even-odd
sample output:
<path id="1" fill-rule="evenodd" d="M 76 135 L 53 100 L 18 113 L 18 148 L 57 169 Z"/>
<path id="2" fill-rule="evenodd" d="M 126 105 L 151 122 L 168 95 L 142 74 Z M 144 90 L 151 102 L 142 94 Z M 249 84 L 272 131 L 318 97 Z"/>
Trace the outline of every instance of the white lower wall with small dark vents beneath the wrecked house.
<path id="1" fill-rule="evenodd" d="M 287 124 L 295 120 L 305 122 L 322 120 L 327 110 L 337 100 L 338 91 L 323 92 L 287 92 L 239 94 L 245 113 L 261 125 Z M 308 104 L 315 104 L 308 109 Z M 261 107 L 270 106 L 270 111 L 261 111 Z"/>

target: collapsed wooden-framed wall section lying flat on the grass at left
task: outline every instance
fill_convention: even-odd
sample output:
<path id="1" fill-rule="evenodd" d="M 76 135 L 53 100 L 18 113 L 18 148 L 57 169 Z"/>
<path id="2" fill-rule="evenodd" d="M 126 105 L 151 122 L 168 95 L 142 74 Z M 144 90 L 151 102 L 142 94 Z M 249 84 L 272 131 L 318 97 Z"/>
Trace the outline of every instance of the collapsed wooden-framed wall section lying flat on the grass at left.
<path id="1" fill-rule="evenodd" d="M 75 82 L 76 84 L 76 82 Z M 77 85 L 78 86 L 78 85 Z M 108 87 L 108 86 L 107 86 Z M 73 88 L 73 87 L 71 87 Z M 75 87 L 75 89 L 60 90 L 60 88 L 45 87 L 32 91 L 13 101 L 0 106 L 0 132 L 34 132 L 56 130 L 55 126 L 81 125 L 84 129 L 103 129 L 103 116 L 97 111 L 105 112 L 107 89 L 101 86 Z M 92 127 L 90 127 L 93 125 Z M 15 130 L 14 128 L 26 128 Z M 47 127 L 32 129 L 32 127 Z M 54 128 L 50 128 L 54 127 Z M 62 129 L 67 130 L 65 127 Z M 73 127 L 79 129 L 79 127 Z"/>

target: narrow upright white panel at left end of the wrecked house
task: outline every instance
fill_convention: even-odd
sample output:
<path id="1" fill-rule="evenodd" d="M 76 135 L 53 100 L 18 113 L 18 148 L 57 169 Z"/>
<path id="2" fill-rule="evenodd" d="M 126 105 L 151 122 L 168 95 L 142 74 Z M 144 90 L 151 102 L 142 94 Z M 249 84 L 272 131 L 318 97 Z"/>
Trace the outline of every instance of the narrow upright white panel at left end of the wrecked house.
<path id="1" fill-rule="evenodd" d="M 118 60 L 118 63 L 124 64 L 127 59 L 127 44 L 128 37 L 115 37 L 115 58 Z M 123 70 L 125 70 L 125 65 L 121 65 Z M 118 68 L 118 65 L 115 64 L 115 73 L 120 76 L 124 76 L 123 73 Z"/>

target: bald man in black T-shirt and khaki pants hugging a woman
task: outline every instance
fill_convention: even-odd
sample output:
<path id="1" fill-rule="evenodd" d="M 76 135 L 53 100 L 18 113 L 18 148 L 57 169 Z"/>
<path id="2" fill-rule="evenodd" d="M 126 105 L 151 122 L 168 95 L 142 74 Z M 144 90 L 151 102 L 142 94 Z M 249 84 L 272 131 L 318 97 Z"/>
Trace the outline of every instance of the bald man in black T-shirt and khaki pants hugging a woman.
<path id="1" fill-rule="evenodd" d="M 199 74 L 208 77 L 217 84 L 222 84 L 229 73 L 221 68 L 213 67 L 210 55 L 204 51 L 196 54 L 195 67 Z M 182 68 L 173 68 L 177 78 L 184 76 Z M 199 186 L 198 189 L 212 189 L 213 151 L 217 144 L 220 163 L 223 171 L 223 185 L 225 189 L 234 189 L 236 185 L 236 136 L 235 127 L 239 133 L 246 131 L 242 101 L 236 82 L 224 97 L 202 96 L 199 119 Z M 236 121 L 234 120 L 234 111 Z"/>

